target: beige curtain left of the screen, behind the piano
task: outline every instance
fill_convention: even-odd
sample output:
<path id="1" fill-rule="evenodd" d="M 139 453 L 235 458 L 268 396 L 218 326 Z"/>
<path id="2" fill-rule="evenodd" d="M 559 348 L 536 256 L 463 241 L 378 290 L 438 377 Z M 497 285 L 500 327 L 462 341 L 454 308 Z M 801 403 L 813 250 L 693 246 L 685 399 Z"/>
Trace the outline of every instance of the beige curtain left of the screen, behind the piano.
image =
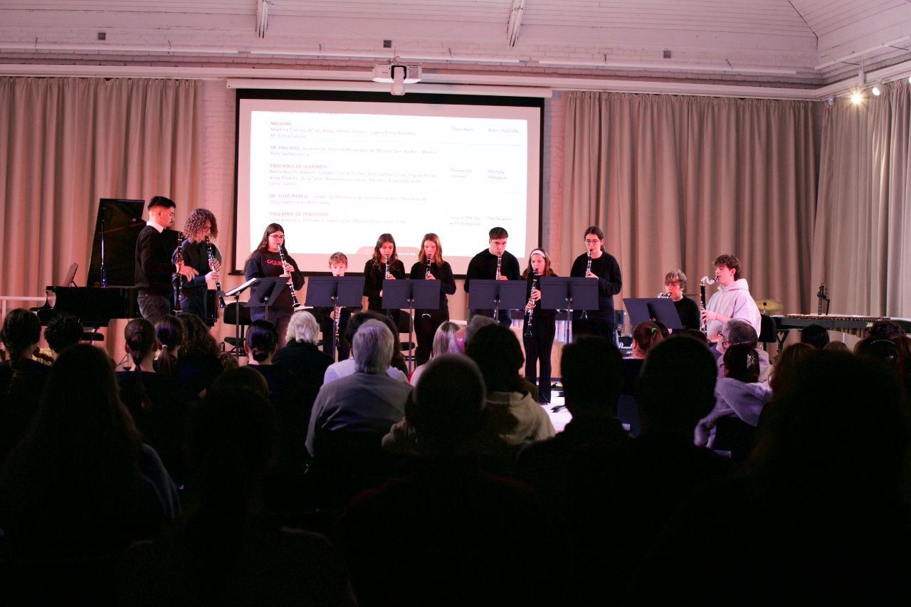
<path id="1" fill-rule="evenodd" d="M 168 196 L 181 225 L 201 139 L 199 81 L 0 78 L 0 293 L 43 295 L 72 262 L 85 284 L 100 198 Z"/>

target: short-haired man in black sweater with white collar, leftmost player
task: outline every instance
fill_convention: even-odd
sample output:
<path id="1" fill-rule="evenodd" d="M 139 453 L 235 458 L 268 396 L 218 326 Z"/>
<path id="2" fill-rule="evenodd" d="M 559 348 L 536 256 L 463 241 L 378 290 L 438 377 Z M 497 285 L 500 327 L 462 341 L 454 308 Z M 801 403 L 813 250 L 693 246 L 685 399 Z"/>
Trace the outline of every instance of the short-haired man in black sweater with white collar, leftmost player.
<path id="1" fill-rule="evenodd" d="M 161 232 L 174 222 L 177 205 L 164 196 L 148 201 L 148 223 L 136 240 L 136 270 L 133 278 L 138 289 L 139 314 L 155 323 L 170 314 L 173 303 L 171 277 L 181 274 L 190 281 L 199 273 L 184 263 L 171 262 Z"/>

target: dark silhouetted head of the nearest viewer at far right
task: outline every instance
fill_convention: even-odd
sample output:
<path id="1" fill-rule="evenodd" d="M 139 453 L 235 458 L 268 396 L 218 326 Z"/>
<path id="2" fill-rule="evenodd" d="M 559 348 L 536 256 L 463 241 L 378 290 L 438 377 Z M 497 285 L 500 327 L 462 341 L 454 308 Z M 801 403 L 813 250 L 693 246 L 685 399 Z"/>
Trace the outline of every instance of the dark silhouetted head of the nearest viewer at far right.
<path id="1" fill-rule="evenodd" d="M 843 507 L 875 503 L 885 493 L 896 498 L 908 433 L 897 376 L 885 365 L 818 352 L 801 364 L 792 389 L 773 393 L 770 405 L 754 454 L 776 473 L 770 478 L 806 492 L 834 489 Z"/>

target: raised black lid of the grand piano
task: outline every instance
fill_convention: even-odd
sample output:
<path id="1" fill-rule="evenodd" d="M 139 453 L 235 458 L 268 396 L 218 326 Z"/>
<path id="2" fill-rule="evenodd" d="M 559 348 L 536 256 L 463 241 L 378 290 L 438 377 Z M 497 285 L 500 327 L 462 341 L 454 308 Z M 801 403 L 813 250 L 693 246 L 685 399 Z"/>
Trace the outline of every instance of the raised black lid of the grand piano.
<path id="1" fill-rule="evenodd" d="M 107 286 L 133 286 L 136 241 L 146 227 L 142 219 L 145 201 L 102 198 L 98 201 L 92 257 L 88 262 L 87 286 L 101 286 L 101 218 L 105 218 L 105 265 Z"/>

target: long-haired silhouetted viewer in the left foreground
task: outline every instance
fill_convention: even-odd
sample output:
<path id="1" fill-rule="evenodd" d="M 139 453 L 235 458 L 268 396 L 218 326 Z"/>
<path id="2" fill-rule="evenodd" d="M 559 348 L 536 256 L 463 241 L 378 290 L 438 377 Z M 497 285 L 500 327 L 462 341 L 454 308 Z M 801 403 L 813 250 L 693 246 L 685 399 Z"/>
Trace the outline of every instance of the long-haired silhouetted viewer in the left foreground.
<path id="1" fill-rule="evenodd" d="M 118 398 L 107 354 L 67 348 L 0 476 L 9 546 L 38 558 L 96 557 L 151 537 L 179 508 L 168 472 Z"/>

